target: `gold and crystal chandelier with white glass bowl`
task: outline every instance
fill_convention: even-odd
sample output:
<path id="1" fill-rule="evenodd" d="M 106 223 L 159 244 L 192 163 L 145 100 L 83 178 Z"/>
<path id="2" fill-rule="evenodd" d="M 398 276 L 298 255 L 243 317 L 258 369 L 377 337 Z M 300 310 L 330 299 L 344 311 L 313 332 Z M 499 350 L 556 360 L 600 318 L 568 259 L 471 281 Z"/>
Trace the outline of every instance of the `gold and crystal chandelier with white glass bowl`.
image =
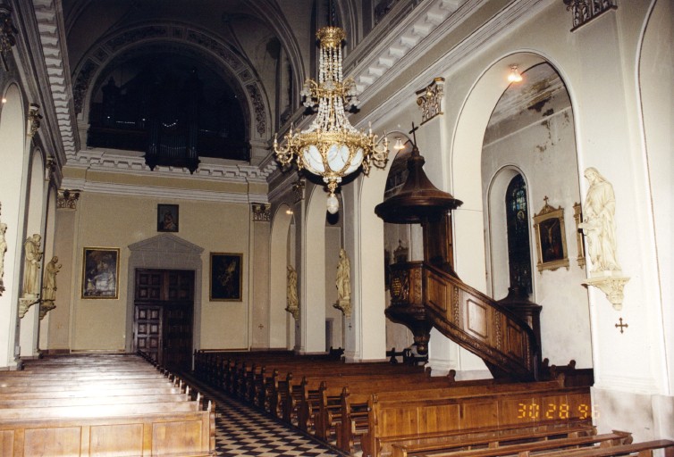
<path id="1" fill-rule="evenodd" d="M 323 177 L 327 184 L 327 209 L 334 214 L 339 201 L 334 195 L 341 179 L 362 165 L 367 174 L 370 165 L 383 168 L 388 160 L 388 140 L 382 141 L 372 133 L 354 128 L 346 117 L 346 109 L 358 106 L 356 83 L 352 78 L 343 79 L 341 73 L 341 42 L 346 37 L 339 27 L 324 27 L 318 30 L 320 40 L 320 64 L 318 82 L 307 79 L 300 92 L 303 104 L 308 108 L 318 107 L 316 118 L 308 129 L 294 131 L 293 125 L 285 135 L 281 147 L 274 136 L 274 153 L 282 166 L 293 159 L 298 169 Z"/>

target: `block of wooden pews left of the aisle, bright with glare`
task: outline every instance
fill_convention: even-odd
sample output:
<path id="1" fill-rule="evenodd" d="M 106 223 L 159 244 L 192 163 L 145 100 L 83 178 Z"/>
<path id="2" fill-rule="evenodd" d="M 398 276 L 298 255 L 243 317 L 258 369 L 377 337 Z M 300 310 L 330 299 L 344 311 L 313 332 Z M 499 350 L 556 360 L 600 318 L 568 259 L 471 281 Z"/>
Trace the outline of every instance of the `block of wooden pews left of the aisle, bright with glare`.
<path id="1" fill-rule="evenodd" d="M 215 405 L 204 409 L 200 395 L 193 400 L 180 379 L 138 356 L 58 357 L 26 367 L 0 374 L 1 455 L 215 453 Z"/>

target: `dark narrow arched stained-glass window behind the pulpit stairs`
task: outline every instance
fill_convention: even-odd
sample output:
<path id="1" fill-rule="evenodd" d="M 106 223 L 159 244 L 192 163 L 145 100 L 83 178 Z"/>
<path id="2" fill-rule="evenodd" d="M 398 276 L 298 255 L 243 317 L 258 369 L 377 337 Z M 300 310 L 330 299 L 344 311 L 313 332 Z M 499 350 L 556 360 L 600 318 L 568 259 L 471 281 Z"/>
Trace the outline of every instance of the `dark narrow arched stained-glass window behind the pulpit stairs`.
<path id="1" fill-rule="evenodd" d="M 527 184 L 522 175 L 510 181 L 506 191 L 506 223 L 508 224 L 508 258 L 510 288 L 529 295 L 531 287 L 531 249 L 529 245 L 529 215 Z"/>

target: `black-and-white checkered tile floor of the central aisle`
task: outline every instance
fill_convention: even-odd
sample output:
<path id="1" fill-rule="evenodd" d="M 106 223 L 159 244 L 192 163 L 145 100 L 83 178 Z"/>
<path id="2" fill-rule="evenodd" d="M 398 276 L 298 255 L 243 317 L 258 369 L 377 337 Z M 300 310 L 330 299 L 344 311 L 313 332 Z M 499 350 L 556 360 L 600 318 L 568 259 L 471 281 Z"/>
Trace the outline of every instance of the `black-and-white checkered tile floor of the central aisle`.
<path id="1" fill-rule="evenodd" d="M 188 377 L 184 377 L 188 378 Z M 215 400 L 217 455 L 276 457 L 337 457 L 343 455 L 297 429 L 249 407 L 239 400 L 189 379 L 206 397 Z"/>

